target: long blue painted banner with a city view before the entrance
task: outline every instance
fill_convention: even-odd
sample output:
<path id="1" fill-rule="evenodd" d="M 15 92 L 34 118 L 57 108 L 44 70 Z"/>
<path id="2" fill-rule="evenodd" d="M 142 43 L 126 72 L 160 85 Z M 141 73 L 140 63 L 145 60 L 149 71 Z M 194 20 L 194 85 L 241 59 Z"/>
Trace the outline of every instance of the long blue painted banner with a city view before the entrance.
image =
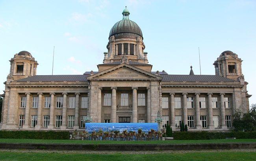
<path id="1" fill-rule="evenodd" d="M 138 131 L 141 129 L 143 132 L 147 133 L 151 129 L 158 130 L 157 123 L 85 123 L 85 130 L 91 133 L 92 131 L 115 131 L 120 132 L 126 131 Z"/>

